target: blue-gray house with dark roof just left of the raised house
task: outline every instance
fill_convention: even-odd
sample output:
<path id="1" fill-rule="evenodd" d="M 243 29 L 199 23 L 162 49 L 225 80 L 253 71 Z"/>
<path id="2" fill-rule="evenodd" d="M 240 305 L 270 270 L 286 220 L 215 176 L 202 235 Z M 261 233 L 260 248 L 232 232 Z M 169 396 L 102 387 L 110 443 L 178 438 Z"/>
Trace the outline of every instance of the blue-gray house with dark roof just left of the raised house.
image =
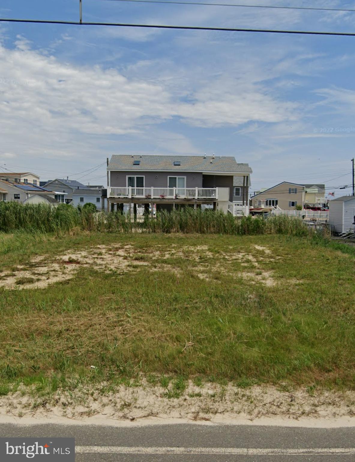
<path id="1" fill-rule="evenodd" d="M 45 184 L 46 188 L 55 189 L 65 194 L 65 203 L 77 206 L 78 204 L 85 204 L 91 202 L 101 210 L 101 189 L 88 187 L 76 180 L 65 180 L 64 178 L 56 178 L 48 180 Z M 85 193 L 83 193 L 85 191 Z"/>

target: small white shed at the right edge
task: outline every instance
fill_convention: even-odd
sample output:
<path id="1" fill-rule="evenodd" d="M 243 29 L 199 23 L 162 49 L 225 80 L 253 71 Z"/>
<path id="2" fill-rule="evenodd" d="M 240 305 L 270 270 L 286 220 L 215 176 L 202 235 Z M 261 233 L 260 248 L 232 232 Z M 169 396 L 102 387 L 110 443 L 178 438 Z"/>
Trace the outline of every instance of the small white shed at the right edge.
<path id="1" fill-rule="evenodd" d="M 329 224 L 337 233 L 353 230 L 355 217 L 355 196 L 337 197 L 329 201 Z"/>

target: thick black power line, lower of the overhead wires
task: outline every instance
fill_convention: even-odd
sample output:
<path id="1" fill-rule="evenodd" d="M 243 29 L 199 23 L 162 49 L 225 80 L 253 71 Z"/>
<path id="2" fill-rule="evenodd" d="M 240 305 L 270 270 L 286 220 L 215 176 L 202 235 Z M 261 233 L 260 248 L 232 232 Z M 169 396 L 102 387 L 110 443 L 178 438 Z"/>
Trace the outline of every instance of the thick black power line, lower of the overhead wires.
<path id="1" fill-rule="evenodd" d="M 217 32 L 262 32 L 269 34 L 301 34 L 301 35 L 328 35 L 328 36 L 349 36 L 354 37 L 355 32 L 325 32 L 318 30 L 281 30 L 281 29 L 245 29 L 234 27 L 213 27 L 213 26 L 176 26 L 167 24 L 128 24 L 128 23 L 95 23 L 78 21 L 51 21 L 49 19 L 13 19 L 0 18 L 0 22 L 8 23 L 29 23 L 29 24 L 66 24 L 83 26 L 112 26 L 112 27 L 137 27 L 147 29 L 176 29 L 176 30 L 214 30 Z"/>

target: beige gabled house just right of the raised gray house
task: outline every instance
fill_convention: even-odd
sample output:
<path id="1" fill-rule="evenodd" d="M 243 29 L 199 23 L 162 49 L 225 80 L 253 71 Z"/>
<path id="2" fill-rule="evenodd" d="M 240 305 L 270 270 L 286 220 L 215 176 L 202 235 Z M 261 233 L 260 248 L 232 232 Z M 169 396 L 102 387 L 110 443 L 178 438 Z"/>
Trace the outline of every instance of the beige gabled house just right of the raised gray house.
<path id="1" fill-rule="evenodd" d="M 252 207 L 279 207 L 282 210 L 295 210 L 296 205 L 305 202 L 303 184 L 283 181 L 251 198 Z"/>

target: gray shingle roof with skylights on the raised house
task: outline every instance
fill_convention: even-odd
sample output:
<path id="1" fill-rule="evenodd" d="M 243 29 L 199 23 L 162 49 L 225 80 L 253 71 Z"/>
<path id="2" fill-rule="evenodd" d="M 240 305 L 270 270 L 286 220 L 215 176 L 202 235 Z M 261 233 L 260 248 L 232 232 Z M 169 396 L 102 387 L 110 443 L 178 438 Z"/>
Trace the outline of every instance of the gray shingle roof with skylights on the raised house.
<path id="1" fill-rule="evenodd" d="M 140 160 L 140 165 L 133 165 L 134 160 Z M 181 165 L 174 165 L 180 161 Z M 166 171 L 197 171 L 222 173 L 252 173 L 248 164 L 237 164 L 231 156 L 129 156 L 113 155 L 107 170 L 166 170 Z"/>

